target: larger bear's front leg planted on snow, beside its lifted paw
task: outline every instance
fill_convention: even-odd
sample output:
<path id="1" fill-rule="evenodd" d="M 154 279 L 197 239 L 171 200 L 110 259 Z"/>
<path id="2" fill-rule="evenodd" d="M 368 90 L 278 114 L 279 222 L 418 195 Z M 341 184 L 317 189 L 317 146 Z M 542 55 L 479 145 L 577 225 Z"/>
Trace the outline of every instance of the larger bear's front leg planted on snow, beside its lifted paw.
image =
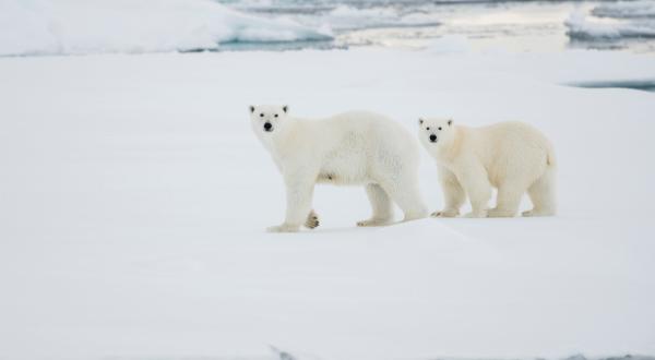
<path id="1" fill-rule="evenodd" d="M 314 183 L 311 180 L 289 179 L 285 181 L 287 209 L 284 223 L 267 229 L 269 232 L 296 232 L 308 219 L 311 211 Z"/>

